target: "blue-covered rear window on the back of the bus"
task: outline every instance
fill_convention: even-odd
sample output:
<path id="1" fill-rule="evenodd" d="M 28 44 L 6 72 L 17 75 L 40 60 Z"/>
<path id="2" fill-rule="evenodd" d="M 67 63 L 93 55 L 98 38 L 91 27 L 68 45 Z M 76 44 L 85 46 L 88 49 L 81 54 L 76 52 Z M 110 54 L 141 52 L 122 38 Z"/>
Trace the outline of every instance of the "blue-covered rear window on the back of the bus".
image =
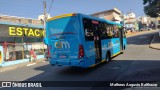
<path id="1" fill-rule="evenodd" d="M 47 23 L 49 37 L 62 34 L 75 34 L 77 28 L 78 20 L 76 16 L 63 17 Z"/>

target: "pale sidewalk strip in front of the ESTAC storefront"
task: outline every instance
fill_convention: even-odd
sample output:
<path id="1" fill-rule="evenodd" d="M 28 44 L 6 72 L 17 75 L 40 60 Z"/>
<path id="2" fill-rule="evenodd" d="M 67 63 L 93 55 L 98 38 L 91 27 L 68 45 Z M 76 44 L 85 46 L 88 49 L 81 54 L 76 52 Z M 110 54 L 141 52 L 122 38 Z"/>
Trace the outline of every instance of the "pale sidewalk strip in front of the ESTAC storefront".
<path id="1" fill-rule="evenodd" d="M 14 70 L 14 69 L 24 67 L 24 66 L 27 67 L 27 66 L 35 65 L 35 64 L 42 63 L 45 61 L 46 61 L 46 59 L 42 58 L 42 59 L 38 59 L 36 62 L 26 62 L 26 63 L 16 64 L 16 65 L 12 65 L 12 66 L 0 67 L 0 72 Z"/>

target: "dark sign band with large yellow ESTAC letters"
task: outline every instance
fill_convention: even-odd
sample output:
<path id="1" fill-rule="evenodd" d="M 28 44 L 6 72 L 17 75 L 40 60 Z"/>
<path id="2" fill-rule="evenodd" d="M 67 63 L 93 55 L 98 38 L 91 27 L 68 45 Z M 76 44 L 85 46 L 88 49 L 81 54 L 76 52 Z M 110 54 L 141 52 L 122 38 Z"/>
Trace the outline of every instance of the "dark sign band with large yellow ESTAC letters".
<path id="1" fill-rule="evenodd" d="M 0 25 L 0 37 L 43 37 L 44 30 L 42 28 Z"/>

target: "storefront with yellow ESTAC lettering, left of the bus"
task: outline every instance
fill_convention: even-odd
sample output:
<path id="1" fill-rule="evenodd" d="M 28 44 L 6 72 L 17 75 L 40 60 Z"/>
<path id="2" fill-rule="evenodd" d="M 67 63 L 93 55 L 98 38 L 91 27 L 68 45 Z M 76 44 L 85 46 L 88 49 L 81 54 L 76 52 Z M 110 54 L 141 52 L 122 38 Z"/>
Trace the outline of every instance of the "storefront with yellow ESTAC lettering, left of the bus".
<path id="1" fill-rule="evenodd" d="M 0 66 L 29 62 L 31 48 L 44 58 L 43 37 L 42 27 L 0 24 Z"/>

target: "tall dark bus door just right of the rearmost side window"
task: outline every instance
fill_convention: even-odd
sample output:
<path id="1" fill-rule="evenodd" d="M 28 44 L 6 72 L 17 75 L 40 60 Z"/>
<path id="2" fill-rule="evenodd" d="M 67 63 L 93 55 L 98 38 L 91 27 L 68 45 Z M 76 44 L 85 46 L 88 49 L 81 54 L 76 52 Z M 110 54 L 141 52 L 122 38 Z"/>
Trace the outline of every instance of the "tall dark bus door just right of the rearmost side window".
<path id="1" fill-rule="evenodd" d="M 101 39 L 98 25 L 93 25 L 94 28 L 94 47 L 95 47 L 95 63 L 99 63 L 102 60 Z"/>

